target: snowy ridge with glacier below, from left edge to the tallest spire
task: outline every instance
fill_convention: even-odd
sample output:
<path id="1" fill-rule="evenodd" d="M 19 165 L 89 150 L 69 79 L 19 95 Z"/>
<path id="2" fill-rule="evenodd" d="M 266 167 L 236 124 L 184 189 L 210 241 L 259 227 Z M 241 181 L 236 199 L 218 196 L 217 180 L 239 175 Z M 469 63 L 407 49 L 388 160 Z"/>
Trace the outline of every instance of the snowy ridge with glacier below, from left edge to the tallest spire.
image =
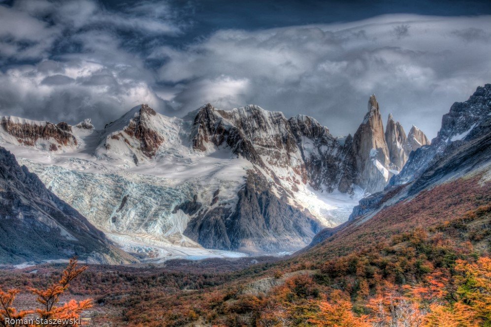
<path id="1" fill-rule="evenodd" d="M 167 256 L 176 246 L 193 252 L 200 244 L 290 252 L 309 244 L 323 227 L 345 221 L 363 188 L 381 189 L 395 172 L 375 96 L 372 107 L 376 121 L 343 141 L 305 115 L 287 119 L 255 105 L 223 110 L 211 104 L 186 119 L 139 105 L 103 130 L 89 120 L 60 123 L 74 146 L 50 137 L 43 146 L 26 146 L 5 129 L 0 137 L 111 239 L 134 240 L 124 245 L 129 251 Z M 361 146 L 370 135 L 379 139 Z M 382 149 L 381 158 L 373 156 L 374 147 Z M 186 210 L 189 203 L 199 208 Z M 241 207 L 256 209 L 249 215 Z M 274 218 L 278 212 L 287 217 Z M 148 242 L 150 250 L 144 247 Z"/>

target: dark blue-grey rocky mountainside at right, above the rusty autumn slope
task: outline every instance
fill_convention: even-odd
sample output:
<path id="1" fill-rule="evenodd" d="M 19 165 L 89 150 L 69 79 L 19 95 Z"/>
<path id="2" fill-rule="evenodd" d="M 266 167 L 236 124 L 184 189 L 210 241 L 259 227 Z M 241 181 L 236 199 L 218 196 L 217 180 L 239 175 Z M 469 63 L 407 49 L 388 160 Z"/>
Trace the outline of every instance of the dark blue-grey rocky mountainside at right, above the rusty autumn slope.
<path id="1" fill-rule="evenodd" d="M 420 143 L 427 142 L 425 137 L 417 138 Z M 443 116 L 440 131 L 431 144 L 411 152 L 402 171 L 386 189 L 360 200 L 350 220 L 370 217 L 381 208 L 449 178 L 485 169 L 490 162 L 491 85 L 487 84 L 479 87 L 469 100 L 454 103 Z"/>

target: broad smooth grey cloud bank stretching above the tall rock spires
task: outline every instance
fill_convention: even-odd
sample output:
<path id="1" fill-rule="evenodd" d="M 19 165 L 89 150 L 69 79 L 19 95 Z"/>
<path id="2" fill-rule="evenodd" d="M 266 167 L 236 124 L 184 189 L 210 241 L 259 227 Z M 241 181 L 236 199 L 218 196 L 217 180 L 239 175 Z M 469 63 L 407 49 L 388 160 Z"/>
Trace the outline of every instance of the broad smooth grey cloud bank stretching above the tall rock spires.
<path id="1" fill-rule="evenodd" d="M 187 87 L 176 95 L 185 111 L 200 99 L 221 103 L 223 89 L 209 81 L 247 80 L 227 90 L 229 106 L 257 103 L 287 116 L 306 113 L 336 134 L 354 132 L 375 92 L 385 115 L 435 136 L 441 116 L 490 82 L 491 18 L 387 15 L 336 25 L 272 30 L 223 30 L 176 51 L 162 81 Z M 473 42 L 472 51 L 468 42 Z M 192 81 L 187 83 L 186 81 Z M 204 101 L 201 101 L 204 102 Z"/>

